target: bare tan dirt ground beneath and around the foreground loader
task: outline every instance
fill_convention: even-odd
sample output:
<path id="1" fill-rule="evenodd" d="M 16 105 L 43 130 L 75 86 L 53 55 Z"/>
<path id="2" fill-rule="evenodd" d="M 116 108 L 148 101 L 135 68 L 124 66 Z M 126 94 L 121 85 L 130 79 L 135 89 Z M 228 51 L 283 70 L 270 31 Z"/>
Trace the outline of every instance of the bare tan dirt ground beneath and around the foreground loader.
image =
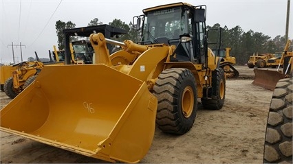
<path id="1" fill-rule="evenodd" d="M 155 129 L 151 149 L 140 163 L 262 163 L 272 91 L 252 85 L 253 69 L 236 68 L 240 76 L 226 81 L 221 110 L 199 106 L 193 128 L 182 136 Z M 0 108 L 10 100 L 0 92 Z M 1 163 L 105 163 L 6 132 L 0 136 Z"/>

